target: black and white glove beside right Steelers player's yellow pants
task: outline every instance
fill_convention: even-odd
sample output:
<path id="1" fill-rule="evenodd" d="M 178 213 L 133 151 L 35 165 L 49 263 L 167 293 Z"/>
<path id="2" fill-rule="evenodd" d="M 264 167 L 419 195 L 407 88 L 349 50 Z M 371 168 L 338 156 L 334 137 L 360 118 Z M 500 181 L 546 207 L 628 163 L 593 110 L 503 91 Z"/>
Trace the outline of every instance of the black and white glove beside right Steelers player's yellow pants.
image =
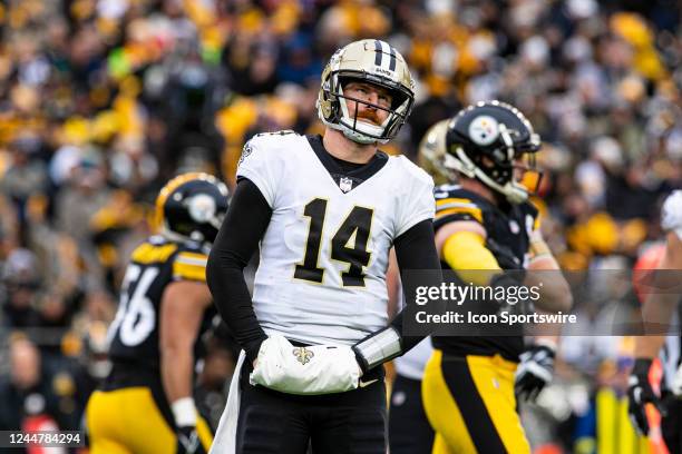
<path id="1" fill-rule="evenodd" d="M 535 401 L 554 375 L 554 348 L 534 345 L 520 355 L 514 391 L 518 399 Z"/>

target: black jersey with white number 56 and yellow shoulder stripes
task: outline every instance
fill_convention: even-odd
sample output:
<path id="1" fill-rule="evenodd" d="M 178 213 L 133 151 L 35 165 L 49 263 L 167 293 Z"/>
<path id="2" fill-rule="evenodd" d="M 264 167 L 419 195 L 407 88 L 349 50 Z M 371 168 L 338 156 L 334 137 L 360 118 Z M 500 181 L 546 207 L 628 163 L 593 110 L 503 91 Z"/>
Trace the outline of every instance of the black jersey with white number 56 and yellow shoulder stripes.
<path id="1" fill-rule="evenodd" d="M 131 255 L 120 288 L 116 318 L 108 332 L 109 357 L 115 366 L 133 365 L 147 372 L 159 368 L 160 304 L 166 286 L 176 280 L 206 282 L 206 251 L 196 243 L 149 237 Z M 211 327 L 213 306 L 202 320 L 195 358 L 203 356 L 202 334 Z"/>

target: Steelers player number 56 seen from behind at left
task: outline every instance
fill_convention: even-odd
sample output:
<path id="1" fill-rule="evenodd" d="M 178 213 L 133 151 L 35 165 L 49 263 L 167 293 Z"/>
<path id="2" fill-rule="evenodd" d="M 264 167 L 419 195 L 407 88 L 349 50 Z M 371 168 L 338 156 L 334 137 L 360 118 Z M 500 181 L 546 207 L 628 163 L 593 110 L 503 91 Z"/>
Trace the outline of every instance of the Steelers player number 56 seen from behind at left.
<path id="1" fill-rule="evenodd" d="M 181 175 L 160 190 L 158 235 L 133 251 L 108 333 L 113 368 L 86 409 L 92 454 L 208 451 L 193 374 L 215 314 L 205 267 L 227 204 L 227 188 L 207 174 Z"/>

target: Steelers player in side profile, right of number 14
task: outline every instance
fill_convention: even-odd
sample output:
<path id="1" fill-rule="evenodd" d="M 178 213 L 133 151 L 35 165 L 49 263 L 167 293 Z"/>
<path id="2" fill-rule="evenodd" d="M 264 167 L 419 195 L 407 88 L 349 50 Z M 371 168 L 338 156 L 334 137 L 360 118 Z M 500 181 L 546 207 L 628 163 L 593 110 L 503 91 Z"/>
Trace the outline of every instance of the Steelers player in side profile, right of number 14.
<path id="1" fill-rule="evenodd" d="M 436 247 L 444 268 L 481 286 L 509 284 L 513 278 L 505 270 L 558 269 L 539 233 L 537 209 L 519 182 L 533 171 L 539 147 L 528 120 L 504 102 L 479 102 L 450 120 L 442 162 L 458 185 L 435 189 Z M 528 280 L 535 277 L 527 276 L 512 284 L 533 285 Z M 572 299 L 566 282 L 557 277 L 543 283 L 537 304 L 549 312 L 567 310 Z M 432 340 L 422 382 L 426 414 L 436 431 L 432 452 L 529 453 L 515 394 L 534 396 L 551 381 L 554 339 L 536 339 L 526 352 L 520 334 Z"/>

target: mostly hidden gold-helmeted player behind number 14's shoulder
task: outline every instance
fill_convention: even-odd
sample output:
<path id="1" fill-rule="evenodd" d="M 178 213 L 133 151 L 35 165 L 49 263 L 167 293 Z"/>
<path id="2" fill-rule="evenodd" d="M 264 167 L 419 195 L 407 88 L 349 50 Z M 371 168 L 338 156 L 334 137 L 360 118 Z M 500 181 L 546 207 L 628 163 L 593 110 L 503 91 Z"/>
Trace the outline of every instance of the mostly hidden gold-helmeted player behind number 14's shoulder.
<path id="1" fill-rule="evenodd" d="M 442 167 L 448 122 L 449 119 L 446 119 L 431 126 L 419 144 L 419 167 L 425 169 L 437 185 L 448 182 L 452 174 Z M 394 280 L 399 287 L 399 278 Z M 396 299 L 401 299 L 400 290 L 392 293 L 398 295 Z M 389 412 L 391 454 L 428 454 L 431 452 L 435 433 L 423 412 L 421 379 L 423 368 L 432 352 L 431 339 L 427 337 L 393 362 L 396 379 L 391 387 Z"/>

